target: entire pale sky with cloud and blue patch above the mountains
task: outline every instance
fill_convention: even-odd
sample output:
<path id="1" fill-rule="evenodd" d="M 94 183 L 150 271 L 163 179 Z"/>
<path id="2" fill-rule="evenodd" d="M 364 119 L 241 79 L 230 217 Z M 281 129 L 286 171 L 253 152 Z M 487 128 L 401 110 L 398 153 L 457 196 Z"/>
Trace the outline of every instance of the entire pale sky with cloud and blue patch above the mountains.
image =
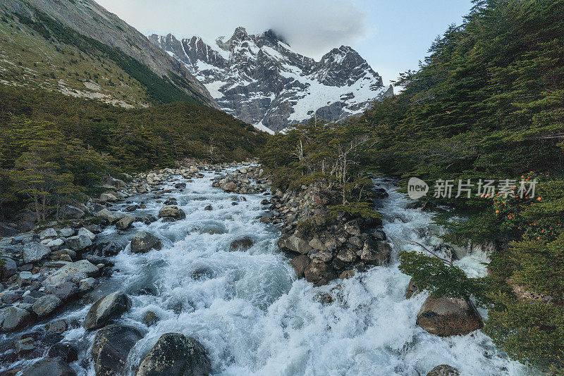
<path id="1" fill-rule="evenodd" d="M 471 0 L 96 0 L 145 35 L 172 32 L 214 40 L 273 29 L 293 48 L 319 58 L 352 46 L 389 82 L 416 69 L 450 23 L 460 25 Z"/>

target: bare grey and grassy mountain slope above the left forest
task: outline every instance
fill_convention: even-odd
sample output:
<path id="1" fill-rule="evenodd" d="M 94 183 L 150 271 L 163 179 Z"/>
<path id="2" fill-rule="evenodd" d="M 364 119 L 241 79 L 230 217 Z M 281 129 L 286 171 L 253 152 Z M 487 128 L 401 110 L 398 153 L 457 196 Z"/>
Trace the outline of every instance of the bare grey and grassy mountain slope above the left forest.
<path id="1" fill-rule="evenodd" d="M 184 65 L 95 1 L 6 0 L 0 15 L 2 82 L 125 107 L 188 100 L 218 108 Z M 18 65 L 23 77 L 13 73 Z"/>

